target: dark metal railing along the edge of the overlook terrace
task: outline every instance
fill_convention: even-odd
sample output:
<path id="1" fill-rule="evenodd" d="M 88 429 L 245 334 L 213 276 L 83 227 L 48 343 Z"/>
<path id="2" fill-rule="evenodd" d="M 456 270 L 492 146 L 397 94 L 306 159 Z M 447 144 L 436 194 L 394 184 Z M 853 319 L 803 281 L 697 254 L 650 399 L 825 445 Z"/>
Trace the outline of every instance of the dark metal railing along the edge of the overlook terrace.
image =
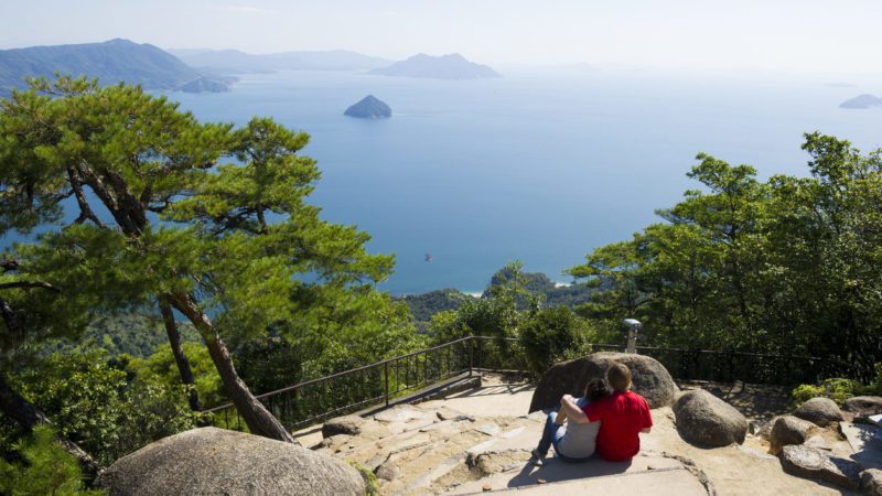
<path id="1" fill-rule="evenodd" d="M 624 345 L 592 344 L 592 352 L 624 352 Z M 637 353 L 664 365 L 675 379 L 795 385 L 831 377 L 838 364 L 817 357 L 770 355 L 712 349 L 637 346 Z M 256 398 L 290 429 L 319 423 L 475 370 L 527 370 L 525 354 L 515 338 L 467 336 L 431 348 L 305 380 Z M 246 430 L 232 403 L 204 413 L 212 423 Z"/>

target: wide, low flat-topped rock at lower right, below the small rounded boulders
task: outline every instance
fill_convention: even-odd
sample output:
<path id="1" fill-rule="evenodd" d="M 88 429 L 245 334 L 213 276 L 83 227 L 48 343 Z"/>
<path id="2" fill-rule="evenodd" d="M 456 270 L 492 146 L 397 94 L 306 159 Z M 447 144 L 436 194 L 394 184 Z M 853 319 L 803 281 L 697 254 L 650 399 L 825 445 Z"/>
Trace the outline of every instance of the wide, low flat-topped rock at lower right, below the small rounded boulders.
<path id="1" fill-rule="evenodd" d="M 846 489 L 858 490 L 861 466 L 851 460 L 830 456 L 805 444 L 790 444 L 781 450 L 784 472 L 797 477 L 824 481 Z"/>

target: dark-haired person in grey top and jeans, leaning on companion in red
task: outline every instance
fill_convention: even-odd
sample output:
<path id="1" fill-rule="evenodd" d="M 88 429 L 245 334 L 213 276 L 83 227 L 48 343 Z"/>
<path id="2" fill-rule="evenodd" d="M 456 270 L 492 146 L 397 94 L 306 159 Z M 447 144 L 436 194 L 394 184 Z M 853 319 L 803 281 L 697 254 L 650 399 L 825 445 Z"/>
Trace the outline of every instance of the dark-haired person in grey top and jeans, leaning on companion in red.
<path id="1" fill-rule="evenodd" d="M 584 396 L 576 399 L 574 402 L 579 408 L 582 408 L 610 396 L 610 388 L 606 387 L 606 382 L 603 379 L 592 379 L 585 386 Z M 542 430 L 542 439 L 539 441 L 539 445 L 533 450 L 530 463 L 538 466 L 544 465 L 542 459 L 548 454 L 548 449 L 552 444 L 558 455 L 567 462 L 581 462 L 594 454 L 600 422 L 570 422 L 569 425 L 563 425 L 566 421 L 567 412 L 563 410 L 548 413 L 548 419 L 546 419 L 546 425 Z"/>

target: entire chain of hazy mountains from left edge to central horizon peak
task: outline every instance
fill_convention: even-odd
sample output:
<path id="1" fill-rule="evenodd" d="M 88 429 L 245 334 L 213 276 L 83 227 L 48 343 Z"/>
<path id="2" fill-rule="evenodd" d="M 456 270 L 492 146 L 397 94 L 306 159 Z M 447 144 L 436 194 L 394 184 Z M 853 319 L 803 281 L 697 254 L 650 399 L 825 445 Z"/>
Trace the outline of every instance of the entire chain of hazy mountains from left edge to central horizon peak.
<path id="1" fill-rule="evenodd" d="M 392 63 L 343 50 L 267 55 L 236 50 L 174 50 L 169 53 L 151 44 L 117 39 L 104 43 L 0 50 L 0 97 L 8 96 L 14 88 L 26 88 L 26 77 L 53 79 L 55 73 L 97 77 L 103 85 L 125 82 L 144 89 L 217 93 L 228 91 L 236 80 L 218 74 L 295 69 L 369 71 L 369 74 L 386 76 L 440 79 L 499 77 L 486 65 L 469 62 L 458 53 L 442 56 L 421 53 Z"/>

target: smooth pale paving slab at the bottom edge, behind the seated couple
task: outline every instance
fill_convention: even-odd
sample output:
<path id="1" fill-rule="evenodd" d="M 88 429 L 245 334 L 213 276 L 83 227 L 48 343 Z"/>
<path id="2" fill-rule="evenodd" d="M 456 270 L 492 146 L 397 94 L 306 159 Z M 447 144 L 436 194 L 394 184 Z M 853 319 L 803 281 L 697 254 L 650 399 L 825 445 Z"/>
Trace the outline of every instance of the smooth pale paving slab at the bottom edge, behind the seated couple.
<path id="1" fill-rule="evenodd" d="M 579 478 L 556 483 L 537 484 L 519 487 L 494 486 L 491 484 L 490 494 L 516 494 L 524 496 L 560 496 L 569 494 L 602 494 L 604 496 L 707 496 L 704 486 L 686 468 L 675 467 L 667 470 L 624 473 L 601 477 Z M 482 484 L 482 485 L 483 485 Z M 487 494 L 482 485 L 475 487 L 460 486 L 465 489 L 454 494 Z M 458 489 L 460 489 L 458 488 Z M 476 490 L 475 490 L 476 489 Z M 498 490 L 495 490 L 498 489 Z"/>

